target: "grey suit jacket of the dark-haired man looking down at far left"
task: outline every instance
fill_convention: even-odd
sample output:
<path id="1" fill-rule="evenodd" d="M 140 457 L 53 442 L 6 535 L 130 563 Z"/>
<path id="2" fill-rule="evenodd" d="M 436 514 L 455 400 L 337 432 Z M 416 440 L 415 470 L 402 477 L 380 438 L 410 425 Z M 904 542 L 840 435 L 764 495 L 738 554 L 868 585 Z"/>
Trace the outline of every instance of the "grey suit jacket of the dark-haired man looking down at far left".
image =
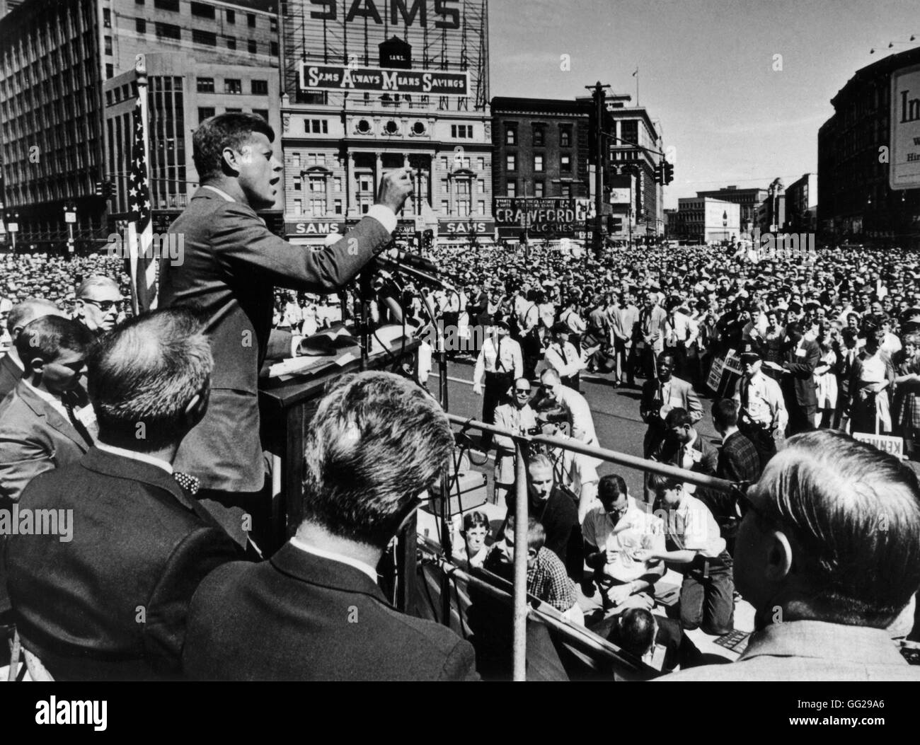
<path id="1" fill-rule="evenodd" d="M 74 425 L 20 380 L 0 403 L 0 504 L 17 501 L 35 476 L 76 463 L 87 450 Z"/>

